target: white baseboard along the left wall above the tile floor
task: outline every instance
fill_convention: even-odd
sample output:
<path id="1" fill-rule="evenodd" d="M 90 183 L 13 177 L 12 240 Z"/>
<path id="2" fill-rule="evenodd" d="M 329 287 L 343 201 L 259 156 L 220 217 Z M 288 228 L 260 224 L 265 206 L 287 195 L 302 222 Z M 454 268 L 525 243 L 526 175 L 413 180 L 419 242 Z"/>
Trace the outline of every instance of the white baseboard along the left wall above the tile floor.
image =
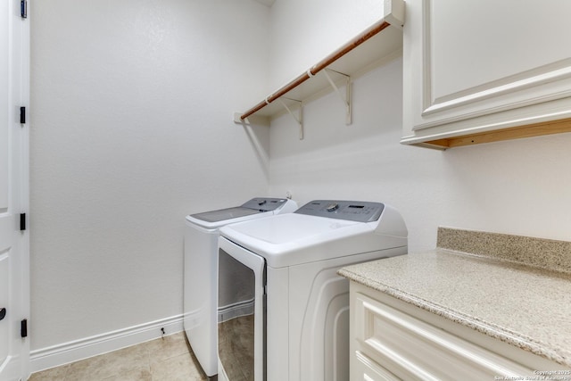
<path id="1" fill-rule="evenodd" d="M 30 352 L 30 370 L 34 373 L 130 345 L 145 343 L 161 337 L 163 335 L 161 328 L 164 328 L 164 335 L 182 331 L 182 315 L 37 349 Z"/>

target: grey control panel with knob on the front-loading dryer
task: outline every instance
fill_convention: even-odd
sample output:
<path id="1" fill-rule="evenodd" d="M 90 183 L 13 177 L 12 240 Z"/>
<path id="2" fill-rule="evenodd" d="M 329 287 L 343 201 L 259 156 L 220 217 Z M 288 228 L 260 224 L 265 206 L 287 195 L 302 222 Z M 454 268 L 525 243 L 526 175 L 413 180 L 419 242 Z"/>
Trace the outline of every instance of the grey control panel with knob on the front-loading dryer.
<path id="1" fill-rule="evenodd" d="M 347 219 L 357 222 L 372 222 L 381 217 L 385 209 L 383 203 L 366 201 L 314 200 L 306 203 L 297 211 L 298 214 L 327 217 L 329 219 Z"/>

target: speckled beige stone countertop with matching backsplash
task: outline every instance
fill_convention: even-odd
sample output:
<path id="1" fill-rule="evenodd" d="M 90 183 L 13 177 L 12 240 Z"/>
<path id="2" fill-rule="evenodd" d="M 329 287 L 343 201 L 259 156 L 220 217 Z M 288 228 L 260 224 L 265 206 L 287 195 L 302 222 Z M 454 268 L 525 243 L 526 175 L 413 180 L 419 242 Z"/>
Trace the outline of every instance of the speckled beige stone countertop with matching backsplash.
<path id="1" fill-rule="evenodd" d="M 571 367 L 571 243 L 448 228 L 438 235 L 433 251 L 339 274 Z"/>

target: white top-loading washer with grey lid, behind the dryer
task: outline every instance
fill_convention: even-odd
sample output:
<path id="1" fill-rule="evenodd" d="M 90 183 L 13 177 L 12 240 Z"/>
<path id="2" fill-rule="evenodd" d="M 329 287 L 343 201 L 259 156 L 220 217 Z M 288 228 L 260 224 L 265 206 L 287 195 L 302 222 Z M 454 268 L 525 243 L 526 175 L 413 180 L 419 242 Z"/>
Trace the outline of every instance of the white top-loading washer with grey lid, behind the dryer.
<path id="1" fill-rule="evenodd" d="M 186 216 L 183 324 L 188 342 L 210 379 L 216 379 L 218 373 L 219 228 L 296 209 L 297 203 L 292 200 L 258 197 L 241 206 Z"/>

